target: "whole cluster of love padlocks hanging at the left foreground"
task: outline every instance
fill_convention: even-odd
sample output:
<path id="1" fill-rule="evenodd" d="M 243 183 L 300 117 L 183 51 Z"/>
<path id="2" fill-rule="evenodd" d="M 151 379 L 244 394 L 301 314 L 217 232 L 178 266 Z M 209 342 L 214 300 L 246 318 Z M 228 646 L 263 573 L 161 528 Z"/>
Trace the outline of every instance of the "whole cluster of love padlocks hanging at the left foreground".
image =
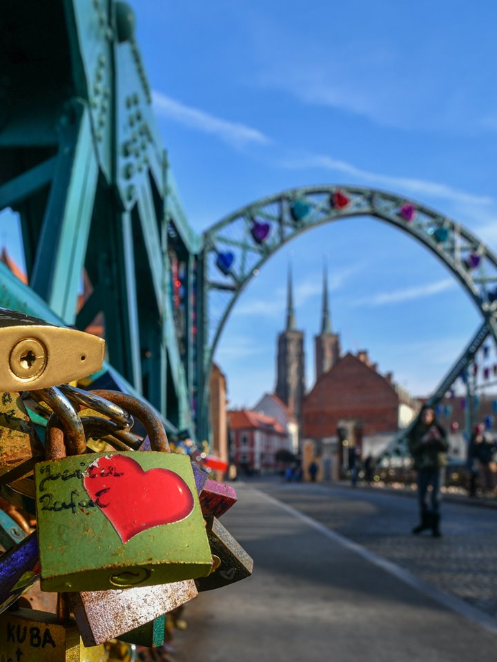
<path id="1" fill-rule="evenodd" d="M 0 662 L 167 659 L 183 605 L 252 572 L 235 490 L 146 403 L 69 385 L 101 339 L 0 309 L 0 357 Z"/>

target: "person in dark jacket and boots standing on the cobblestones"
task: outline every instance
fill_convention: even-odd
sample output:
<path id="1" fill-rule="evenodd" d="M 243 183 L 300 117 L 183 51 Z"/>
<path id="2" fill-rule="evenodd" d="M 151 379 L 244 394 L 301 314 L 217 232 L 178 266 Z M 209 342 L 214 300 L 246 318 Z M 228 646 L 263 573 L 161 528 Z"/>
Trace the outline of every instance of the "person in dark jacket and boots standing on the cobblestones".
<path id="1" fill-rule="evenodd" d="M 418 471 L 420 523 L 413 528 L 418 534 L 431 529 L 440 537 L 440 483 L 442 468 L 447 464 L 447 432 L 435 418 L 435 410 L 424 405 L 408 438 L 409 452 Z M 428 488 L 431 485 L 431 496 Z"/>

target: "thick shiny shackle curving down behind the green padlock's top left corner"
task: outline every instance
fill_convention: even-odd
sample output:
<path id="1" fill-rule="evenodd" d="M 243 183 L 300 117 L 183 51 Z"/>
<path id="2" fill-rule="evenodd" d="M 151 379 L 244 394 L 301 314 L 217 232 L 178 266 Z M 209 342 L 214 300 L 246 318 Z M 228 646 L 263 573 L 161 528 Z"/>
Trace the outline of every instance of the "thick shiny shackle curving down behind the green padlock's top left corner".
<path id="1" fill-rule="evenodd" d="M 65 443 L 70 455 L 81 455 L 86 449 L 86 437 L 84 434 L 83 423 L 79 418 L 75 408 L 68 401 L 66 396 L 55 387 L 46 388 L 39 391 L 40 397 L 43 401 L 48 403 L 53 410 L 53 414 L 48 419 L 47 432 L 50 428 L 59 429 L 65 435 Z M 47 443 L 45 444 L 46 457 L 52 454 L 48 452 Z M 59 457 L 64 457 L 62 454 Z"/>

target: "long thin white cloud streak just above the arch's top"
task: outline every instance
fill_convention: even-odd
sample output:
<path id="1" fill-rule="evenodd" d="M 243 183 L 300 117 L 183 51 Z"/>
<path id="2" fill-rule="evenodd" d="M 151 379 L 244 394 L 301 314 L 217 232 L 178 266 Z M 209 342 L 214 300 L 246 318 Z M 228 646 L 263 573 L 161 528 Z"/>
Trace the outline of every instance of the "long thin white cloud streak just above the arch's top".
<path id="1" fill-rule="evenodd" d="M 474 195 L 465 191 L 452 188 L 447 184 L 440 184 L 427 179 L 416 179 L 413 177 L 395 177 L 389 174 L 380 174 L 356 168 L 355 165 L 340 159 L 333 159 L 320 154 L 307 154 L 303 157 L 292 157 L 285 159 L 281 165 L 284 168 L 295 170 L 309 168 L 324 168 L 334 172 L 342 172 L 362 182 L 376 183 L 393 189 L 402 189 L 409 194 L 427 196 L 430 198 L 450 200 L 455 203 L 470 205 L 490 205 L 494 200 L 489 196 Z"/>

